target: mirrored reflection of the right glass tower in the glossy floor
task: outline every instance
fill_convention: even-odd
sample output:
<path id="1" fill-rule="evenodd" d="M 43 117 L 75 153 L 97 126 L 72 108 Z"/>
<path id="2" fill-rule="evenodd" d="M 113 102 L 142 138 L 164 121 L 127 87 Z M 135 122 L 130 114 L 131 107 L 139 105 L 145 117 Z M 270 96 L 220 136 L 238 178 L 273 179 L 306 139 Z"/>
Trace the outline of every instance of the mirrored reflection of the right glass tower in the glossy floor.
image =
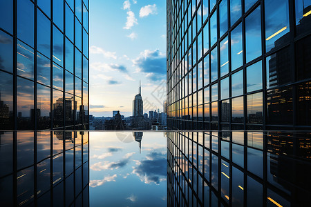
<path id="1" fill-rule="evenodd" d="M 167 132 L 167 206 L 309 206 L 310 133 Z"/>

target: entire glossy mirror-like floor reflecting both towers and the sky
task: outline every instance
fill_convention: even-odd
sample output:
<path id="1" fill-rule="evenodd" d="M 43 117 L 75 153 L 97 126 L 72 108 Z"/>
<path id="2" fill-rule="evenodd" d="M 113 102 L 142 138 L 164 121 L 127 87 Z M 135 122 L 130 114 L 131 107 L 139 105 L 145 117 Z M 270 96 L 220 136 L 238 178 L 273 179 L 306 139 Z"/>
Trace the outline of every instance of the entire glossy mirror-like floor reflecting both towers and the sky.
<path id="1" fill-rule="evenodd" d="M 310 206 L 310 132 L 0 132 L 0 206 Z"/>

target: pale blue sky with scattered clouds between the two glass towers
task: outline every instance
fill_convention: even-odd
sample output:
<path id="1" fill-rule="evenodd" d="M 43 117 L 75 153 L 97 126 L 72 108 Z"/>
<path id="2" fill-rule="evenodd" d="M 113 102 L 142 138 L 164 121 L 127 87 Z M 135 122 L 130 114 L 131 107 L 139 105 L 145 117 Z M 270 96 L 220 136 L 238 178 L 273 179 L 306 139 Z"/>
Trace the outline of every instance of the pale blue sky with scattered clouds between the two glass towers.
<path id="1" fill-rule="evenodd" d="M 166 99 L 166 1 L 90 1 L 90 115 L 132 115 L 142 81 L 144 112 Z"/>

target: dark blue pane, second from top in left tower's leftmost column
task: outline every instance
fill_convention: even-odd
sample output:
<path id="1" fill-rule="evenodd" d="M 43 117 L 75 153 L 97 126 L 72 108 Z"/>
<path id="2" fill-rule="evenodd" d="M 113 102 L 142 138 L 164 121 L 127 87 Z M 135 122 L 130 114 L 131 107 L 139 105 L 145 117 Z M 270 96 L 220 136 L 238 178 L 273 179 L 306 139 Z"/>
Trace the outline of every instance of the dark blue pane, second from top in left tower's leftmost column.
<path id="1" fill-rule="evenodd" d="M 0 30 L 0 69 L 13 72 L 13 38 Z"/>

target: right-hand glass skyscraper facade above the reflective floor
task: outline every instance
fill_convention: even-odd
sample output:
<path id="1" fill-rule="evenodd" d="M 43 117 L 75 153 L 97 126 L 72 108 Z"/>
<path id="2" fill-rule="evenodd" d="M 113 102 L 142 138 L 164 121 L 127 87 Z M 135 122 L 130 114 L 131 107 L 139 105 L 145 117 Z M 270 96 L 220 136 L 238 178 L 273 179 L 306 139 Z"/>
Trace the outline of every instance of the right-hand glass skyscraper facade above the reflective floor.
<path id="1" fill-rule="evenodd" d="M 168 125 L 311 127 L 311 1 L 167 0 Z"/>

